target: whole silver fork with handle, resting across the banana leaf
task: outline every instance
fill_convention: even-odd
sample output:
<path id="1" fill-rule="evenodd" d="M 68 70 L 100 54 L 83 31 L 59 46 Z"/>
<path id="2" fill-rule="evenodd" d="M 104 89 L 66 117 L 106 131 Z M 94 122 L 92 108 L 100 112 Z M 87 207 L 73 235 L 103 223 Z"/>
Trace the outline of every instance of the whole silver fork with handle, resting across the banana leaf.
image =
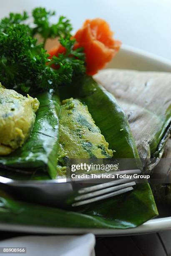
<path id="1" fill-rule="evenodd" d="M 141 171 L 139 169 L 126 170 L 112 174 L 118 173 L 139 174 Z M 98 185 L 97 180 L 93 179 L 90 179 L 91 182 L 88 184 L 83 179 L 77 181 L 78 183 L 74 183 L 66 178 L 42 181 L 13 180 L 0 176 L 0 188 L 7 189 L 19 200 L 72 209 L 131 191 L 136 184 L 135 179 L 115 179 Z"/>

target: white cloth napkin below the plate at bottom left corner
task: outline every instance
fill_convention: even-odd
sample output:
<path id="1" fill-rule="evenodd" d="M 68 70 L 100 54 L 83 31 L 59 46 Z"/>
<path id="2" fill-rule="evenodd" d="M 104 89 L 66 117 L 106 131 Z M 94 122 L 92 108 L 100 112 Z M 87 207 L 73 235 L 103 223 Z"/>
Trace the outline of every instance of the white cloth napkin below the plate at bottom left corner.
<path id="1" fill-rule="evenodd" d="M 25 256 L 95 256 L 95 236 L 20 236 L 0 241 L 0 247 L 27 247 Z M 5 253 L 5 256 L 11 253 Z"/>

